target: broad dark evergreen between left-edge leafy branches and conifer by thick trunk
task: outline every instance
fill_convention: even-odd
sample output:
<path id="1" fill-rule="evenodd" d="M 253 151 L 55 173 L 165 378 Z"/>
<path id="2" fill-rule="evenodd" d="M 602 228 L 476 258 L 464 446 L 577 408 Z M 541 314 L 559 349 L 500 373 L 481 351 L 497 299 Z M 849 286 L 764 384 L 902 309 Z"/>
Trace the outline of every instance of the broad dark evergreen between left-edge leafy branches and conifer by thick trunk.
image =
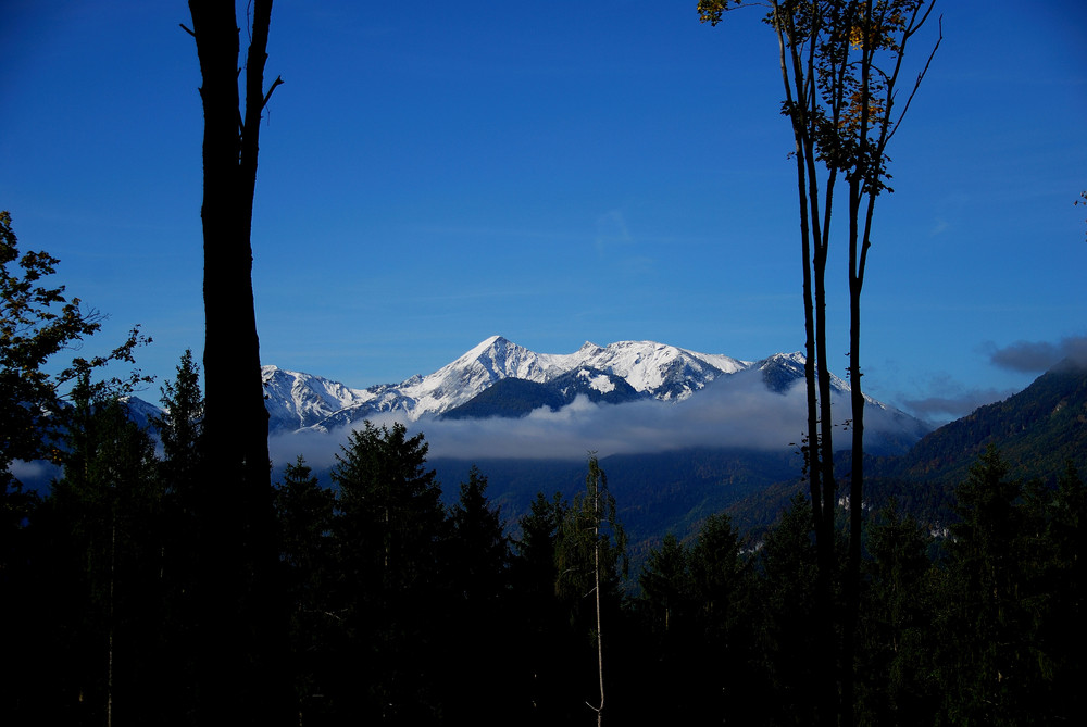
<path id="1" fill-rule="evenodd" d="M 51 540 L 42 564 L 55 619 L 50 647 L 60 666 L 46 709 L 104 724 L 159 723 L 170 685 L 154 447 L 117 400 L 93 399 L 86 378 L 70 422 L 64 476 L 41 518 Z"/>

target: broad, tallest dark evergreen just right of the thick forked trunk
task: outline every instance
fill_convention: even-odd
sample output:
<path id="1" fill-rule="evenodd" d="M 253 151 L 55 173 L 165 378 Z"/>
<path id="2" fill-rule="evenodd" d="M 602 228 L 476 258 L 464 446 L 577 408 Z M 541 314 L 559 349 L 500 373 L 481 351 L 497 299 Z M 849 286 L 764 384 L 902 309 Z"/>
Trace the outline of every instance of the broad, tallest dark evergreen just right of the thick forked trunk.
<path id="1" fill-rule="evenodd" d="M 449 603 L 446 513 L 423 435 L 370 422 L 337 455 L 333 523 L 341 621 L 336 709 L 345 718 L 438 718 L 436 668 Z"/>

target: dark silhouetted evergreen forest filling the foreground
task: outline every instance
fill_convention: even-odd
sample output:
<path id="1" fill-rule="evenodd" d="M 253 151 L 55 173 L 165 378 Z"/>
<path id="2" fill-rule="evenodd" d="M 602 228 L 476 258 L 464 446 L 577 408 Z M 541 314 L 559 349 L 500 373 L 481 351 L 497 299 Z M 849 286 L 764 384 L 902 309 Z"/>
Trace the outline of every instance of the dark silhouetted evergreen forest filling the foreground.
<path id="1" fill-rule="evenodd" d="M 64 476 L 0 574 L 18 666 L 0 716 L 207 724 L 171 466 L 120 402 L 79 402 Z M 471 472 L 442 506 L 425 454 L 421 436 L 371 426 L 341 453 L 338 489 L 302 460 L 285 469 L 274 585 L 289 687 L 273 719 L 592 724 L 601 645 L 609 722 L 816 718 L 817 555 L 802 497 L 755 541 L 724 515 L 665 537 L 632 592 L 621 541 L 595 531 L 610 510 L 592 504 L 599 471 L 573 502 L 540 494 L 511 549 L 485 476 Z M 855 724 L 1071 723 L 1084 677 L 1078 474 L 1016 482 L 989 452 L 957 499 L 953 539 L 894 504 L 867 523 Z"/>

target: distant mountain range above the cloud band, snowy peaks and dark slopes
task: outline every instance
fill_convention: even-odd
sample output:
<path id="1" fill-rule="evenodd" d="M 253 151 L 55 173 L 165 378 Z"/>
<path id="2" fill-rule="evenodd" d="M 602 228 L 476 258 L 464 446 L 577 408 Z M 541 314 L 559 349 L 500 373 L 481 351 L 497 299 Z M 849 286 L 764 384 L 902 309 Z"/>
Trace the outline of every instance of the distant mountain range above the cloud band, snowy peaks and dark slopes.
<path id="1" fill-rule="evenodd" d="M 264 366 L 263 376 L 270 430 L 283 434 L 327 433 L 388 415 L 407 422 L 516 418 L 541 409 L 562 409 L 579 397 L 602 404 L 680 403 L 711 384 L 716 389 L 742 387 L 751 394 L 784 396 L 803 379 L 803 365 L 800 353 L 751 362 L 653 341 L 605 347 L 586 342 L 573 353 L 537 353 L 492 336 L 438 371 L 399 384 L 355 389 L 277 366 Z M 838 394 L 849 391 L 838 377 L 832 377 L 832 384 Z M 903 412 L 873 399 L 869 403 L 894 422 L 877 427 L 891 440 L 909 444 L 927 431 Z"/>

